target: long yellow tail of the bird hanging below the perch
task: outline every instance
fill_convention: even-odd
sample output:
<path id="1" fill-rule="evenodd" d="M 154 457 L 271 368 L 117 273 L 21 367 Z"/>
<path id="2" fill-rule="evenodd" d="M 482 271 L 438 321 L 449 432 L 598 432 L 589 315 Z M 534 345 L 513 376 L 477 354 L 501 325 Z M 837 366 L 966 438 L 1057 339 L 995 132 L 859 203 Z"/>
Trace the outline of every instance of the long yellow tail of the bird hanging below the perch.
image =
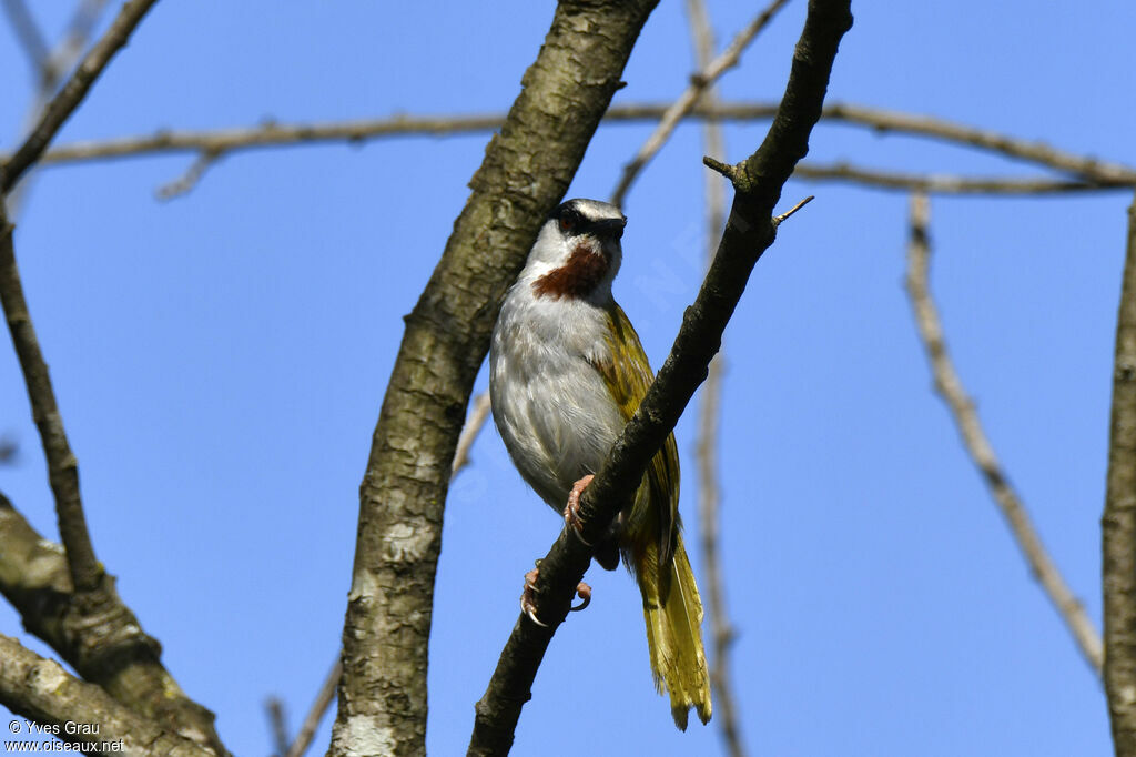
<path id="1" fill-rule="evenodd" d="M 670 692 L 670 714 L 675 725 L 685 731 L 691 707 L 698 710 L 703 724 L 710 719 L 710 674 L 702 650 L 702 600 L 682 535 L 677 538 L 669 566 L 652 565 L 654 550 L 645 552 L 642 558 L 648 559 L 635 566 L 635 574 L 643 593 L 651 672 L 659 693 L 663 688 Z M 669 575 L 660 576 L 660 569 L 669 571 Z M 660 588 L 665 592 L 661 601 Z"/>

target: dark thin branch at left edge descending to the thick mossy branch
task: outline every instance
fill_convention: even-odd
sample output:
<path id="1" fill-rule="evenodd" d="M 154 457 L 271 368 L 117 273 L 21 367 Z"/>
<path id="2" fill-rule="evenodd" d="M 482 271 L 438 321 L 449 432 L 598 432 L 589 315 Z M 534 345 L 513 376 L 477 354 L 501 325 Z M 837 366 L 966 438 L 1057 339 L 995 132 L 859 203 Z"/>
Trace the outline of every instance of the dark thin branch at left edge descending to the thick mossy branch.
<path id="1" fill-rule="evenodd" d="M 12 226 L 0 200 L 0 303 L 11 334 L 12 346 L 19 358 L 19 368 L 32 404 L 32 417 L 40 431 L 43 454 L 48 459 L 48 480 L 56 499 L 59 535 L 67 550 L 72 583 L 77 591 L 92 590 L 102 577 L 102 566 L 94 557 L 94 547 L 83 514 L 78 491 L 78 460 L 72 452 L 64 419 L 56 402 L 56 392 L 48 375 L 48 364 L 40 350 L 35 326 L 27 311 L 24 286 L 16 267 Z"/>

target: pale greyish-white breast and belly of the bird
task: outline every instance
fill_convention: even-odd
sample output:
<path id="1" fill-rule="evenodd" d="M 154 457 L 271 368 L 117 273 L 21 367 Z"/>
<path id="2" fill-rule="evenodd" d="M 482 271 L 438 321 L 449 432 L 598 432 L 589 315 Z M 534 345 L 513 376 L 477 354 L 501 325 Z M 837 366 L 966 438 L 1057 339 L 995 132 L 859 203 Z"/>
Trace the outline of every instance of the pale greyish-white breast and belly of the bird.
<path id="1" fill-rule="evenodd" d="M 599 469 L 624 418 L 594 367 L 610 360 L 607 309 L 535 297 L 538 273 L 526 271 L 501 308 L 490 347 L 490 393 L 521 476 L 560 511 L 571 485 Z"/>

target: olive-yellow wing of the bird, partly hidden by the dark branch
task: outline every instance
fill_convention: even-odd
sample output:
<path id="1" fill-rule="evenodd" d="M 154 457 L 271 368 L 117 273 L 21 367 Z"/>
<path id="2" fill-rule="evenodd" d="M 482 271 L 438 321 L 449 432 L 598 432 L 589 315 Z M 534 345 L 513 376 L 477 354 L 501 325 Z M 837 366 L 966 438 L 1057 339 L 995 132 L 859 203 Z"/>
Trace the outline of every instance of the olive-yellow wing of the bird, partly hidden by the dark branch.
<path id="1" fill-rule="evenodd" d="M 654 374 L 623 308 L 612 305 L 609 314 L 608 343 L 612 363 L 596 365 L 596 369 L 624 418 L 630 421 L 654 381 Z M 651 459 L 624 534 L 625 546 L 640 554 L 655 551 L 650 548 L 657 544 L 655 559 L 660 567 L 674 557 L 678 534 L 678 448 L 674 434 L 667 434 L 662 448 Z"/>

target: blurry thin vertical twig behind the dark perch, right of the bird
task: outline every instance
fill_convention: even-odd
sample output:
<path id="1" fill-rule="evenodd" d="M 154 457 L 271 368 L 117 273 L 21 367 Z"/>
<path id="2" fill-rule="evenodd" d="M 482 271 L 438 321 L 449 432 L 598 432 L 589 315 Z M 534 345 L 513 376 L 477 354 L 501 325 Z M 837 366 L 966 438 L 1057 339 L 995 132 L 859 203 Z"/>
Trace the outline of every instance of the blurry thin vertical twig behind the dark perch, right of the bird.
<path id="1" fill-rule="evenodd" d="M 696 65 L 704 70 L 710 66 L 715 51 L 713 28 L 703 0 L 686 0 L 686 16 L 690 20 Z M 708 106 L 718 101 L 716 86 L 707 89 L 702 100 Z M 726 140 L 721 124 L 707 119 L 702 127 L 702 141 L 709 155 L 726 155 Z M 726 225 L 726 188 L 713 174 L 703 176 L 705 190 L 707 269 L 718 251 L 718 240 Z M 713 684 L 713 701 L 721 738 L 732 757 L 745 757 L 745 741 L 742 738 L 737 717 L 737 696 L 732 683 L 730 662 L 735 633 L 726 609 L 725 572 L 721 566 L 720 515 L 721 489 L 718 480 L 718 422 L 721 415 L 722 366 L 726 348 L 715 356 L 707 369 L 702 384 L 699 407 L 699 431 L 695 455 L 699 466 L 699 525 L 702 534 L 702 565 L 705 574 L 703 591 L 710 608 L 711 657 L 710 681 Z"/>

